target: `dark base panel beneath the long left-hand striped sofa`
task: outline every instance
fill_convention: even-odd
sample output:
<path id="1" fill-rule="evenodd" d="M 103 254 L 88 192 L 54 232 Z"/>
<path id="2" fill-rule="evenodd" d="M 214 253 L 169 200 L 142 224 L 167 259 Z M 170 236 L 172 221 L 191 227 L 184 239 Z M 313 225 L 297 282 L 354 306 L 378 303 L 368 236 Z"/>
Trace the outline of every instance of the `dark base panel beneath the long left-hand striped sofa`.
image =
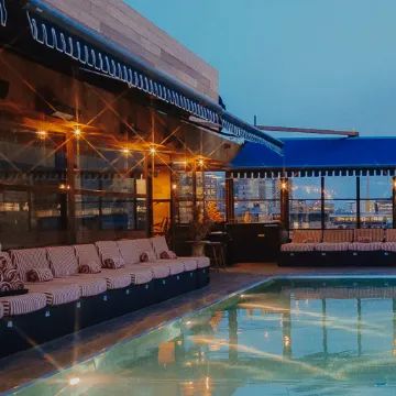
<path id="1" fill-rule="evenodd" d="M 209 268 L 205 270 L 108 290 L 32 314 L 4 317 L 0 319 L 0 358 L 202 287 L 209 283 Z"/>

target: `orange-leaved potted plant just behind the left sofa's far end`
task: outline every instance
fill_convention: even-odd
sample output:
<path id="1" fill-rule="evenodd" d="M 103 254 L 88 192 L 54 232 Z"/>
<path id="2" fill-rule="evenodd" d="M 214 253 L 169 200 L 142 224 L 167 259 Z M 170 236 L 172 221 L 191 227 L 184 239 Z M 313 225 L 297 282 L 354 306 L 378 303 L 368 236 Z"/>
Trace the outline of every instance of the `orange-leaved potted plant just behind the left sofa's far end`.
<path id="1" fill-rule="evenodd" d="M 189 223 L 189 238 L 193 241 L 193 256 L 205 255 L 205 239 L 210 232 L 213 221 L 210 220 L 206 210 L 195 207 L 193 210 L 193 220 Z"/>

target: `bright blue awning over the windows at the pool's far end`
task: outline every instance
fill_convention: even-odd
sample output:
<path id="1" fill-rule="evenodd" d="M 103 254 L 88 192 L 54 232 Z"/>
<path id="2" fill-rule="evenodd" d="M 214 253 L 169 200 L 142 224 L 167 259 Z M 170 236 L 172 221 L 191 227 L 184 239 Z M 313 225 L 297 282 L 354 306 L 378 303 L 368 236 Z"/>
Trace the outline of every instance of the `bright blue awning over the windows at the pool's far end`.
<path id="1" fill-rule="evenodd" d="M 289 138 L 283 154 L 245 143 L 231 163 L 242 177 L 395 175 L 396 138 Z"/>

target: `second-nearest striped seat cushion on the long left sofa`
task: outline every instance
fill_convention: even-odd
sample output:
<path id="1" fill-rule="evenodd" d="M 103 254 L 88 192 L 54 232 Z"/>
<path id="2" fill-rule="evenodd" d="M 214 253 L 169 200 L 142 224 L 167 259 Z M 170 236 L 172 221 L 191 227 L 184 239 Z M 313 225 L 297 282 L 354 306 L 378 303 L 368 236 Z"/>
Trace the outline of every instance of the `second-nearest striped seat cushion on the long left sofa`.
<path id="1" fill-rule="evenodd" d="M 26 284 L 26 287 L 29 288 L 29 292 L 44 294 L 48 306 L 59 306 L 77 301 L 81 297 L 81 290 L 77 285 L 59 285 L 56 280 L 34 284 L 29 283 Z"/>

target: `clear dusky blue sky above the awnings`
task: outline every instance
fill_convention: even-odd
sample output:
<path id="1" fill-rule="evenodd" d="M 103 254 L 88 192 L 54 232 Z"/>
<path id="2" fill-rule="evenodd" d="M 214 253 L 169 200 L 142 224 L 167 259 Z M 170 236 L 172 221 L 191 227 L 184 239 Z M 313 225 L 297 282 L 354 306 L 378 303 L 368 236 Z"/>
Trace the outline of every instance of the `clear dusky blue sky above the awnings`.
<path id="1" fill-rule="evenodd" d="M 127 0 L 268 125 L 396 134 L 395 0 Z"/>

